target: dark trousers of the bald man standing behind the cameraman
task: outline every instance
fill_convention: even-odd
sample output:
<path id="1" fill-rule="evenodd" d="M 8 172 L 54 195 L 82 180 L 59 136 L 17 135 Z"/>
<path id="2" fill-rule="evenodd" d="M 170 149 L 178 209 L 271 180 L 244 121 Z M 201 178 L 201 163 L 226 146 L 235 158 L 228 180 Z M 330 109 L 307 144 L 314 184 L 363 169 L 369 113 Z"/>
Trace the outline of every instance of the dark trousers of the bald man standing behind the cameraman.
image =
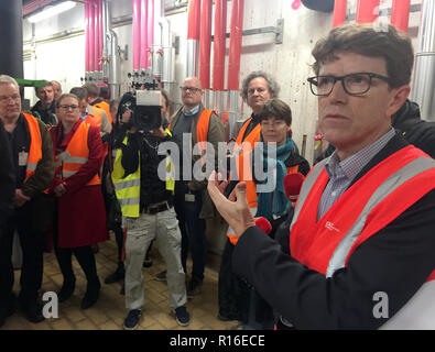
<path id="1" fill-rule="evenodd" d="M 182 264 L 186 272 L 187 254 L 191 250 L 193 262 L 192 277 L 198 280 L 204 279 L 204 270 L 207 258 L 206 222 L 199 219 L 203 207 L 202 195 L 195 195 L 195 201 L 186 201 L 187 189 L 175 188 L 174 208 L 178 219 L 180 231 L 182 232 Z"/>

